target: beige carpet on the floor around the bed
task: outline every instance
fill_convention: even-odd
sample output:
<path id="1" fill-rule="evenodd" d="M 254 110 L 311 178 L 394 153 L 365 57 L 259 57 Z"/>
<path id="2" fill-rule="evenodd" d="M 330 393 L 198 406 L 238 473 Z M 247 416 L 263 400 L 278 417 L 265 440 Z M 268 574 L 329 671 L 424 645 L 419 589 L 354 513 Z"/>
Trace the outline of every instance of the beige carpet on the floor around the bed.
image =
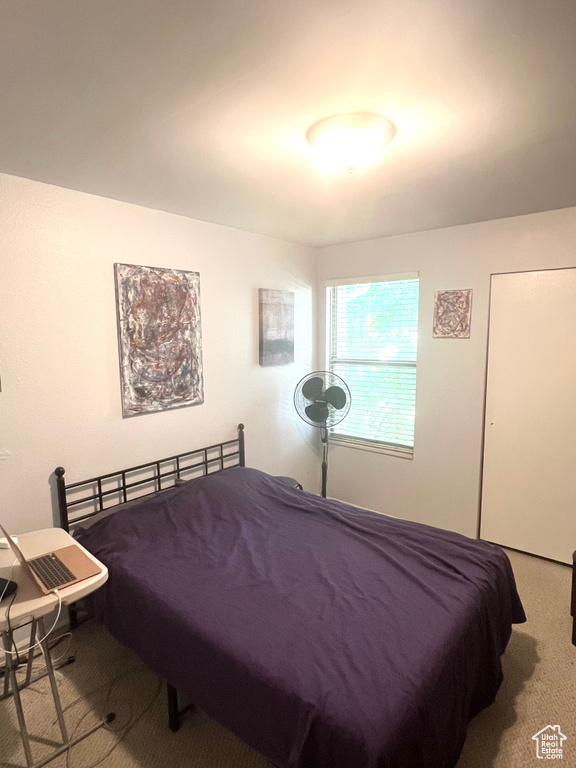
<path id="1" fill-rule="evenodd" d="M 563 761 L 576 766 L 576 648 L 570 644 L 570 569 L 510 552 L 528 622 L 515 629 L 504 656 L 496 702 L 470 724 L 458 768 L 529 768 L 542 765 L 532 736 L 560 725 L 568 737 Z M 54 653 L 65 651 L 64 644 Z M 269 763 L 195 711 L 180 731 L 166 725 L 165 690 L 128 651 L 98 624 L 74 634 L 77 661 L 61 670 L 60 683 L 69 730 L 80 733 L 95 712 L 117 712 L 114 732 L 100 730 L 50 763 L 54 768 L 264 768 Z M 40 660 L 37 662 L 40 664 Z M 58 737 L 47 681 L 23 693 L 36 760 Z M 118 741 L 120 738 L 120 741 Z M 111 751 L 112 750 L 112 751 Z M 0 702 L 0 765 L 24 766 L 14 704 Z M 355 768 L 350 766 L 350 768 Z"/>

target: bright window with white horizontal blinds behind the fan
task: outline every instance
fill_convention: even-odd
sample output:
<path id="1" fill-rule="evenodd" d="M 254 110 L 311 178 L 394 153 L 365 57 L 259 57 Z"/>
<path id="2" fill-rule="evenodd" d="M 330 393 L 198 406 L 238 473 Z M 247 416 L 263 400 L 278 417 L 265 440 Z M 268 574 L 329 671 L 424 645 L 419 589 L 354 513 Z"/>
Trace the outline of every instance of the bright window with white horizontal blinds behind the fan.
<path id="1" fill-rule="evenodd" d="M 350 388 L 336 440 L 412 456 L 418 274 L 330 281 L 328 367 Z"/>

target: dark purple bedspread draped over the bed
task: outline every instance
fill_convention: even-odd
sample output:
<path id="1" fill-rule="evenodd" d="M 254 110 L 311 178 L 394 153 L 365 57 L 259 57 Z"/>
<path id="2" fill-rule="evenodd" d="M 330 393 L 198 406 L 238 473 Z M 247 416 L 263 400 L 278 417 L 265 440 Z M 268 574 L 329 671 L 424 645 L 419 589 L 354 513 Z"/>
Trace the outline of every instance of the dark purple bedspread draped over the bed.
<path id="1" fill-rule="evenodd" d="M 112 634 L 281 768 L 452 768 L 525 620 L 500 548 L 254 469 L 80 541 L 110 571 Z"/>

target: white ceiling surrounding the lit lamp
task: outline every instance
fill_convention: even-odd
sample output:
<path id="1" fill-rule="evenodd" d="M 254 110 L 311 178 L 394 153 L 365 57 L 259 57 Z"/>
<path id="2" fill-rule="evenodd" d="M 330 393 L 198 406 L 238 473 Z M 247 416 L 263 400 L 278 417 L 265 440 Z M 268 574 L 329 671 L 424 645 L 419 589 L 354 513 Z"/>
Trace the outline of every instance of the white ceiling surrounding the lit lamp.
<path id="1" fill-rule="evenodd" d="M 0 0 L 0 171 L 322 246 L 576 205 L 574 0 Z M 387 116 L 326 176 L 332 114 Z"/>

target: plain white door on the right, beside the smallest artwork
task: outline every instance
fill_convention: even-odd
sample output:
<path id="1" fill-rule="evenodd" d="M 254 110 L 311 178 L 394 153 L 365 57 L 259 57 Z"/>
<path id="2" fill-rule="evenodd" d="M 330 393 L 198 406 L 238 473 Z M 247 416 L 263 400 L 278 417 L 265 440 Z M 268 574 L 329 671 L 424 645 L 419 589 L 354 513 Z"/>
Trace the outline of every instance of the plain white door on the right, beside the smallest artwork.
<path id="1" fill-rule="evenodd" d="M 480 535 L 572 562 L 576 269 L 492 276 Z"/>

